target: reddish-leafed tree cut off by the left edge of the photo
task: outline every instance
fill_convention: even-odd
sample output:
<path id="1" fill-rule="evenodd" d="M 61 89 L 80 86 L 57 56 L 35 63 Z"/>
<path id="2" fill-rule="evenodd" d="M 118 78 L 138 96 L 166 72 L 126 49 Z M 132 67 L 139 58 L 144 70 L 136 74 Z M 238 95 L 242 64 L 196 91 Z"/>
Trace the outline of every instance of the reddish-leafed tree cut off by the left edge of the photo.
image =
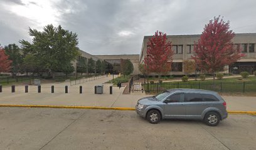
<path id="1" fill-rule="evenodd" d="M 5 54 L 3 47 L 0 47 L 0 73 L 10 71 L 12 61 L 8 58 L 9 56 Z"/>

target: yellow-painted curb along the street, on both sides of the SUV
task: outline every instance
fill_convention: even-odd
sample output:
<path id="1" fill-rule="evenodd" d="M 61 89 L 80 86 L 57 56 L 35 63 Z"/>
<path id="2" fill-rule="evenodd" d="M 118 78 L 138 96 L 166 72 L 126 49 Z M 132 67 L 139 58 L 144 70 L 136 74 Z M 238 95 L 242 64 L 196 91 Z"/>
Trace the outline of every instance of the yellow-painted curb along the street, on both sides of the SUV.
<path id="1" fill-rule="evenodd" d="M 0 104 L 0 108 L 62 108 L 62 109 L 103 109 L 118 111 L 135 111 L 135 108 L 107 108 L 99 106 L 59 106 L 59 105 L 11 105 Z M 252 114 L 256 115 L 256 111 L 227 111 L 228 114 Z"/>

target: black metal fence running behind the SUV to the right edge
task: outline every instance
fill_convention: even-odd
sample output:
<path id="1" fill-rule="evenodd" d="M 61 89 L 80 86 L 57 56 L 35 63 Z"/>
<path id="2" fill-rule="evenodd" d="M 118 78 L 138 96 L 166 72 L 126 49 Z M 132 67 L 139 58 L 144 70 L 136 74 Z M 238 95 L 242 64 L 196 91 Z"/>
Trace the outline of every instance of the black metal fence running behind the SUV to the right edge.
<path id="1" fill-rule="evenodd" d="M 228 82 L 228 81 L 193 81 L 171 83 L 143 83 L 147 93 L 159 93 L 166 89 L 187 88 L 206 89 L 218 93 L 253 93 L 256 92 L 256 82 Z"/>

